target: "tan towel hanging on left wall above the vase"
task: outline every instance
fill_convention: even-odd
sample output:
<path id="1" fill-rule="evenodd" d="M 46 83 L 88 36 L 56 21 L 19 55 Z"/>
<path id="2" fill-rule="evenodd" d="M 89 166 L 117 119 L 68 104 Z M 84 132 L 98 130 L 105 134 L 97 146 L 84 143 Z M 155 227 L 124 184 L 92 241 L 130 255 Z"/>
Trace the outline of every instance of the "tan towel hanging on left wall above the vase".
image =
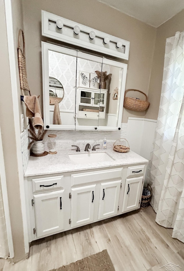
<path id="1" fill-rule="evenodd" d="M 38 98 L 36 95 L 24 96 L 24 102 L 26 105 L 26 117 L 32 118 L 32 125 L 36 129 L 43 130 L 43 119 L 41 117 L 41 110 Z"/>

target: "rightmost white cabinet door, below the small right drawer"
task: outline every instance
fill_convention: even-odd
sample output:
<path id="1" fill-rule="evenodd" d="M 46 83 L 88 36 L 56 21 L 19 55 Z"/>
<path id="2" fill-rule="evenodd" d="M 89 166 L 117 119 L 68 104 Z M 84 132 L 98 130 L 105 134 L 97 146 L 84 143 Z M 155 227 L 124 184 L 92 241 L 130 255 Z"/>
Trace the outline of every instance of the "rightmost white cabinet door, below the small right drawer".
<path id="1" fill-rule="evenodd" d="M 143 176 L 126 179 L 122 212 L 131 211 L 139 207 L 142 189 Z"/>

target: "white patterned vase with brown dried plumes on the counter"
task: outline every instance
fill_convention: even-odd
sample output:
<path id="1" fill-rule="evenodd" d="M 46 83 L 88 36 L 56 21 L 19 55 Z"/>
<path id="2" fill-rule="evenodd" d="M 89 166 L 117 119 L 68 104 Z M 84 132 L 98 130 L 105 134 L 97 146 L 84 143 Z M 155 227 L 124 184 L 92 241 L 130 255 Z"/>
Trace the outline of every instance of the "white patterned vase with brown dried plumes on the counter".
<path id="1" fill-rule="evenodd" d="M 43 138 L 45 136 L 46 130 L 41 131 L 41 129 L 36 130 L 33 125 L 31 119 L 29 119 L 29 129 L 28 129 L 30 138 L 30 143 L 28 145 L 28 150 L 32 147 L 32 152 L 36 156 L 43 155 L 45 152 L 45 146 L 43 144 Z M 47 153 L 48 154 L 48 153 Z"/>

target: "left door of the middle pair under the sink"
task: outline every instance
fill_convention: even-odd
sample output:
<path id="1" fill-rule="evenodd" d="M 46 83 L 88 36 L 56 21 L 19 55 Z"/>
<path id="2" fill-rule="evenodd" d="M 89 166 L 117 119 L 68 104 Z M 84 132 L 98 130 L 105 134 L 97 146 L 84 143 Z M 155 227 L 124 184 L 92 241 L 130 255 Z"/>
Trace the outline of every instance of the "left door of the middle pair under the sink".
<path id="1" fill-rule="evenodd" d="M 96 184 L 71 189 L 71 227 L 93 222 L 95 187 Z"/>

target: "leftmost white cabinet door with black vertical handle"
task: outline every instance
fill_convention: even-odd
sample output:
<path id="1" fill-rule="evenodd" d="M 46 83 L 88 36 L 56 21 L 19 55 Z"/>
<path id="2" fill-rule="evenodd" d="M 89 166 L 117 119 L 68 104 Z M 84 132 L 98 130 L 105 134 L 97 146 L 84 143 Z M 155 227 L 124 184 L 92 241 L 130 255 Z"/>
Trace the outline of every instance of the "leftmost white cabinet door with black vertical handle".
<path id="1" fill-rule="evenodd" d="M 34 195 L 37 237 L 64 230 L 64 190 Z"/>

